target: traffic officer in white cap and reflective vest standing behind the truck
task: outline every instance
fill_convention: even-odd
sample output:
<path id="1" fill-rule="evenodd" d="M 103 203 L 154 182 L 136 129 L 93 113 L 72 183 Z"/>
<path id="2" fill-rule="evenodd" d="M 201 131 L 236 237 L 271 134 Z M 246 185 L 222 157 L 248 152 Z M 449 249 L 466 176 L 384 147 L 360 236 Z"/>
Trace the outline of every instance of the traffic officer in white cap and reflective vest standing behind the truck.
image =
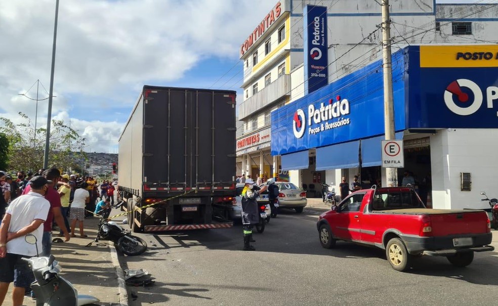
<path id="1" fill-rule="evenodd" d="M 268 185 L 261 189 L 254 185 L 252 179 L 245 180 L 245 186 L 242 190 L 242 225 L 244 226 L 244 251 L 256 250 L 250 242 L 253 239 L 253 225 L 259 223 L 258 196 L 268 189 Z"/>

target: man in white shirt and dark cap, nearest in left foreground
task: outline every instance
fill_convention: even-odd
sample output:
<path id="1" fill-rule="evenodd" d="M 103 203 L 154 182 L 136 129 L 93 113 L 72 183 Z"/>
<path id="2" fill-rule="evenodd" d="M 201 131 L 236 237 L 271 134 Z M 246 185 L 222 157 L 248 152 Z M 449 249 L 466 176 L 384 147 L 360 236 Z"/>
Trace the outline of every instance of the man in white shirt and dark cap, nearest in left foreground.
<path id="1" fill-rule="evenodd" d="M 47 219 L 50 203 L 44 198 L 52 183 L 44 177 L 33 177 L 31 191 L 11 202 L 0 226 L 0 305 L 4 302 L 10 283 L 14 282 L 12 304 L 22 305 L 25 288 L 34 280 L 33 273 L 23 257 L 37 255 L 34 245 L 24 240 L 26 234 L 33 234 L 41 250 L 43 223 Z"/>

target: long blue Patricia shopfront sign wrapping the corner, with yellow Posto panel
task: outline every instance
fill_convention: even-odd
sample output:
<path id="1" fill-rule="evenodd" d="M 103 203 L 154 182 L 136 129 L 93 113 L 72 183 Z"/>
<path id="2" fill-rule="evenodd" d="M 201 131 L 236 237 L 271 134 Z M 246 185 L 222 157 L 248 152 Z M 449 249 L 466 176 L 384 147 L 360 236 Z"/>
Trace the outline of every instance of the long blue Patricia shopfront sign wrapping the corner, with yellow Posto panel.
<path id="1" fill-rule="evenodd" d="M 498 46 L 410 46 L 392 62 L 396 131 L 498 128 Z M 383 85 L 377 61 L 273 111 L 271 154 L 383 135 Z"/>

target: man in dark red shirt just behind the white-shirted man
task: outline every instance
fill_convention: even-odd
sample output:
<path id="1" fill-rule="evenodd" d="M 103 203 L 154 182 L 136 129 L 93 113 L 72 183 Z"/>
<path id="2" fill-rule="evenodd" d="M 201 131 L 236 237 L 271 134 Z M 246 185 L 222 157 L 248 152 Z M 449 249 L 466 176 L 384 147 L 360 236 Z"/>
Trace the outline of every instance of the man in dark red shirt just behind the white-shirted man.
<path id="1" fill-rule="evenodd" d="M 43 239 L 41 240 L 42 246 L 42 254 L 43 256 L 49 256 L 52 250 L 52 221 L 55 220 L 55 223 L 59 226 L 62 233 L 64 234 L 64 241 L 69 241 L 69 232 L 64 224 L 64 217 L 61 212 L 61 197 L 56 189 L 57 182 L 61 176 L 61 172 L 57 168 L 51 168 L 44 171 L 44 177 L 52 181 L 49 184 L 49 190 L 45 194 L 45 198 L 50 202 L 50 210 L 49 215 L 47 216 L 47 220 L 45 220 L 43 224 Z M 31 186 L 27 185 L 24 188 L 23 194 L 27 194 L 31 190 Z"/>

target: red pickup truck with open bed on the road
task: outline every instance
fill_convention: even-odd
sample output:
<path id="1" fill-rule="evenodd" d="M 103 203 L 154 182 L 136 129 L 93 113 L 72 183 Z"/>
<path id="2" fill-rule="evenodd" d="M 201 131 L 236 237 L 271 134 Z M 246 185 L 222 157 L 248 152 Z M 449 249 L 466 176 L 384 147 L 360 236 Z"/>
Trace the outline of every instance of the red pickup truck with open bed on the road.
<path id="1" fill-rule="evenodd" d="M 377 246 L 397 271 L 409 269 L 417 255 L 446 256 L 465 267 L 474 252 L 494 250 L 485 211 L 429 209 L 408 187 L 356 191 L 322 213 L 316 226 L 323 247 L 333 248 L 337 240 Z"/>

